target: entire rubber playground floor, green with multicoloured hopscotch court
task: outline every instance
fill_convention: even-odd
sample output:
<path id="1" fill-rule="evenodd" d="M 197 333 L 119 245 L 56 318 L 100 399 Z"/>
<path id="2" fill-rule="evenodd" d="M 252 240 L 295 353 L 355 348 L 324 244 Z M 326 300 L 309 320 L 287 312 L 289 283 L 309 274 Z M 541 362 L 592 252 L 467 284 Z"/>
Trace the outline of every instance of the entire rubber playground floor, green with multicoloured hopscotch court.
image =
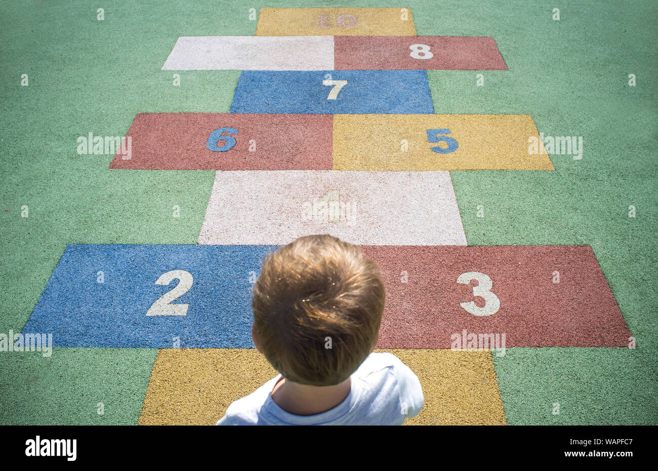
<path id="1" fill-rule="evenodd" d="M 0 5 L 0 424 L 214 424 L 313 233 L 382 269 L 405 424 L 658 424 L 658 6 L 405 5 Z"/>

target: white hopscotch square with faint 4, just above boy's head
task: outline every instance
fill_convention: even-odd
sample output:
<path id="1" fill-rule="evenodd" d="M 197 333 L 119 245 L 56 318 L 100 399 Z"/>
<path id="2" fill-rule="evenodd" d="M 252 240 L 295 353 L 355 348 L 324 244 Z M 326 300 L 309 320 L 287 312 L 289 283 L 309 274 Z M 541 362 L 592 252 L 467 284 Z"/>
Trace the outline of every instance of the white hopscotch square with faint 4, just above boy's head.
<path id="1" fill-rule="evenodd" d="M 217 171 L 199 244 L 466 245 L 447 171 Z"/>

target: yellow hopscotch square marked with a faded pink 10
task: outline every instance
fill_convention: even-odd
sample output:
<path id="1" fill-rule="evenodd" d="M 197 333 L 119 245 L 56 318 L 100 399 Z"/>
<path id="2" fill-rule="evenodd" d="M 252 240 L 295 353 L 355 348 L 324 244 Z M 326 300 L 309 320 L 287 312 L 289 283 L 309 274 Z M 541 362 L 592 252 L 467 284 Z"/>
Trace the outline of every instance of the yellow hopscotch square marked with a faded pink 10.
<path id="1" fill-rule="evenodd" d="M 416 27 L 410 8 L 261 8 L 256 35 L 415 36 Z"/>

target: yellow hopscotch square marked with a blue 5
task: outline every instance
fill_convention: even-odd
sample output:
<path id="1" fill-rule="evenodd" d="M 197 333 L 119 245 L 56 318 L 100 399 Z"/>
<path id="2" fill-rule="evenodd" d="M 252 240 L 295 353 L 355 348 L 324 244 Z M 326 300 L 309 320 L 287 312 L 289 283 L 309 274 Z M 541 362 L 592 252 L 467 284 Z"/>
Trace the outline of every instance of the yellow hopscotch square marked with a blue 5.
<path id="1" fill-rule="evenodd" d="M 555 170 L 525 114 L 336 114 L 333 143 L 334 170 Z"/>

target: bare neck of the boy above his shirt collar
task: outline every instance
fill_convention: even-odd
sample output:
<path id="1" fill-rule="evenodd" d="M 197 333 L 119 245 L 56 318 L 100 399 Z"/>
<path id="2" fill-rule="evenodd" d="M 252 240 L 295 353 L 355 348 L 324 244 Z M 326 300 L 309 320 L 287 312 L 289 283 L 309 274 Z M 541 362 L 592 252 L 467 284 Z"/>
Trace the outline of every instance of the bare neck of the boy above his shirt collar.
<path id="1" fill-rule="evenodd" d="M 272 401 L 294 415 L 316 415 L 342 403 L 351 387 L 351 378 L 334 386 L 309 386 L 282 377 L 272 389 Z"/>

